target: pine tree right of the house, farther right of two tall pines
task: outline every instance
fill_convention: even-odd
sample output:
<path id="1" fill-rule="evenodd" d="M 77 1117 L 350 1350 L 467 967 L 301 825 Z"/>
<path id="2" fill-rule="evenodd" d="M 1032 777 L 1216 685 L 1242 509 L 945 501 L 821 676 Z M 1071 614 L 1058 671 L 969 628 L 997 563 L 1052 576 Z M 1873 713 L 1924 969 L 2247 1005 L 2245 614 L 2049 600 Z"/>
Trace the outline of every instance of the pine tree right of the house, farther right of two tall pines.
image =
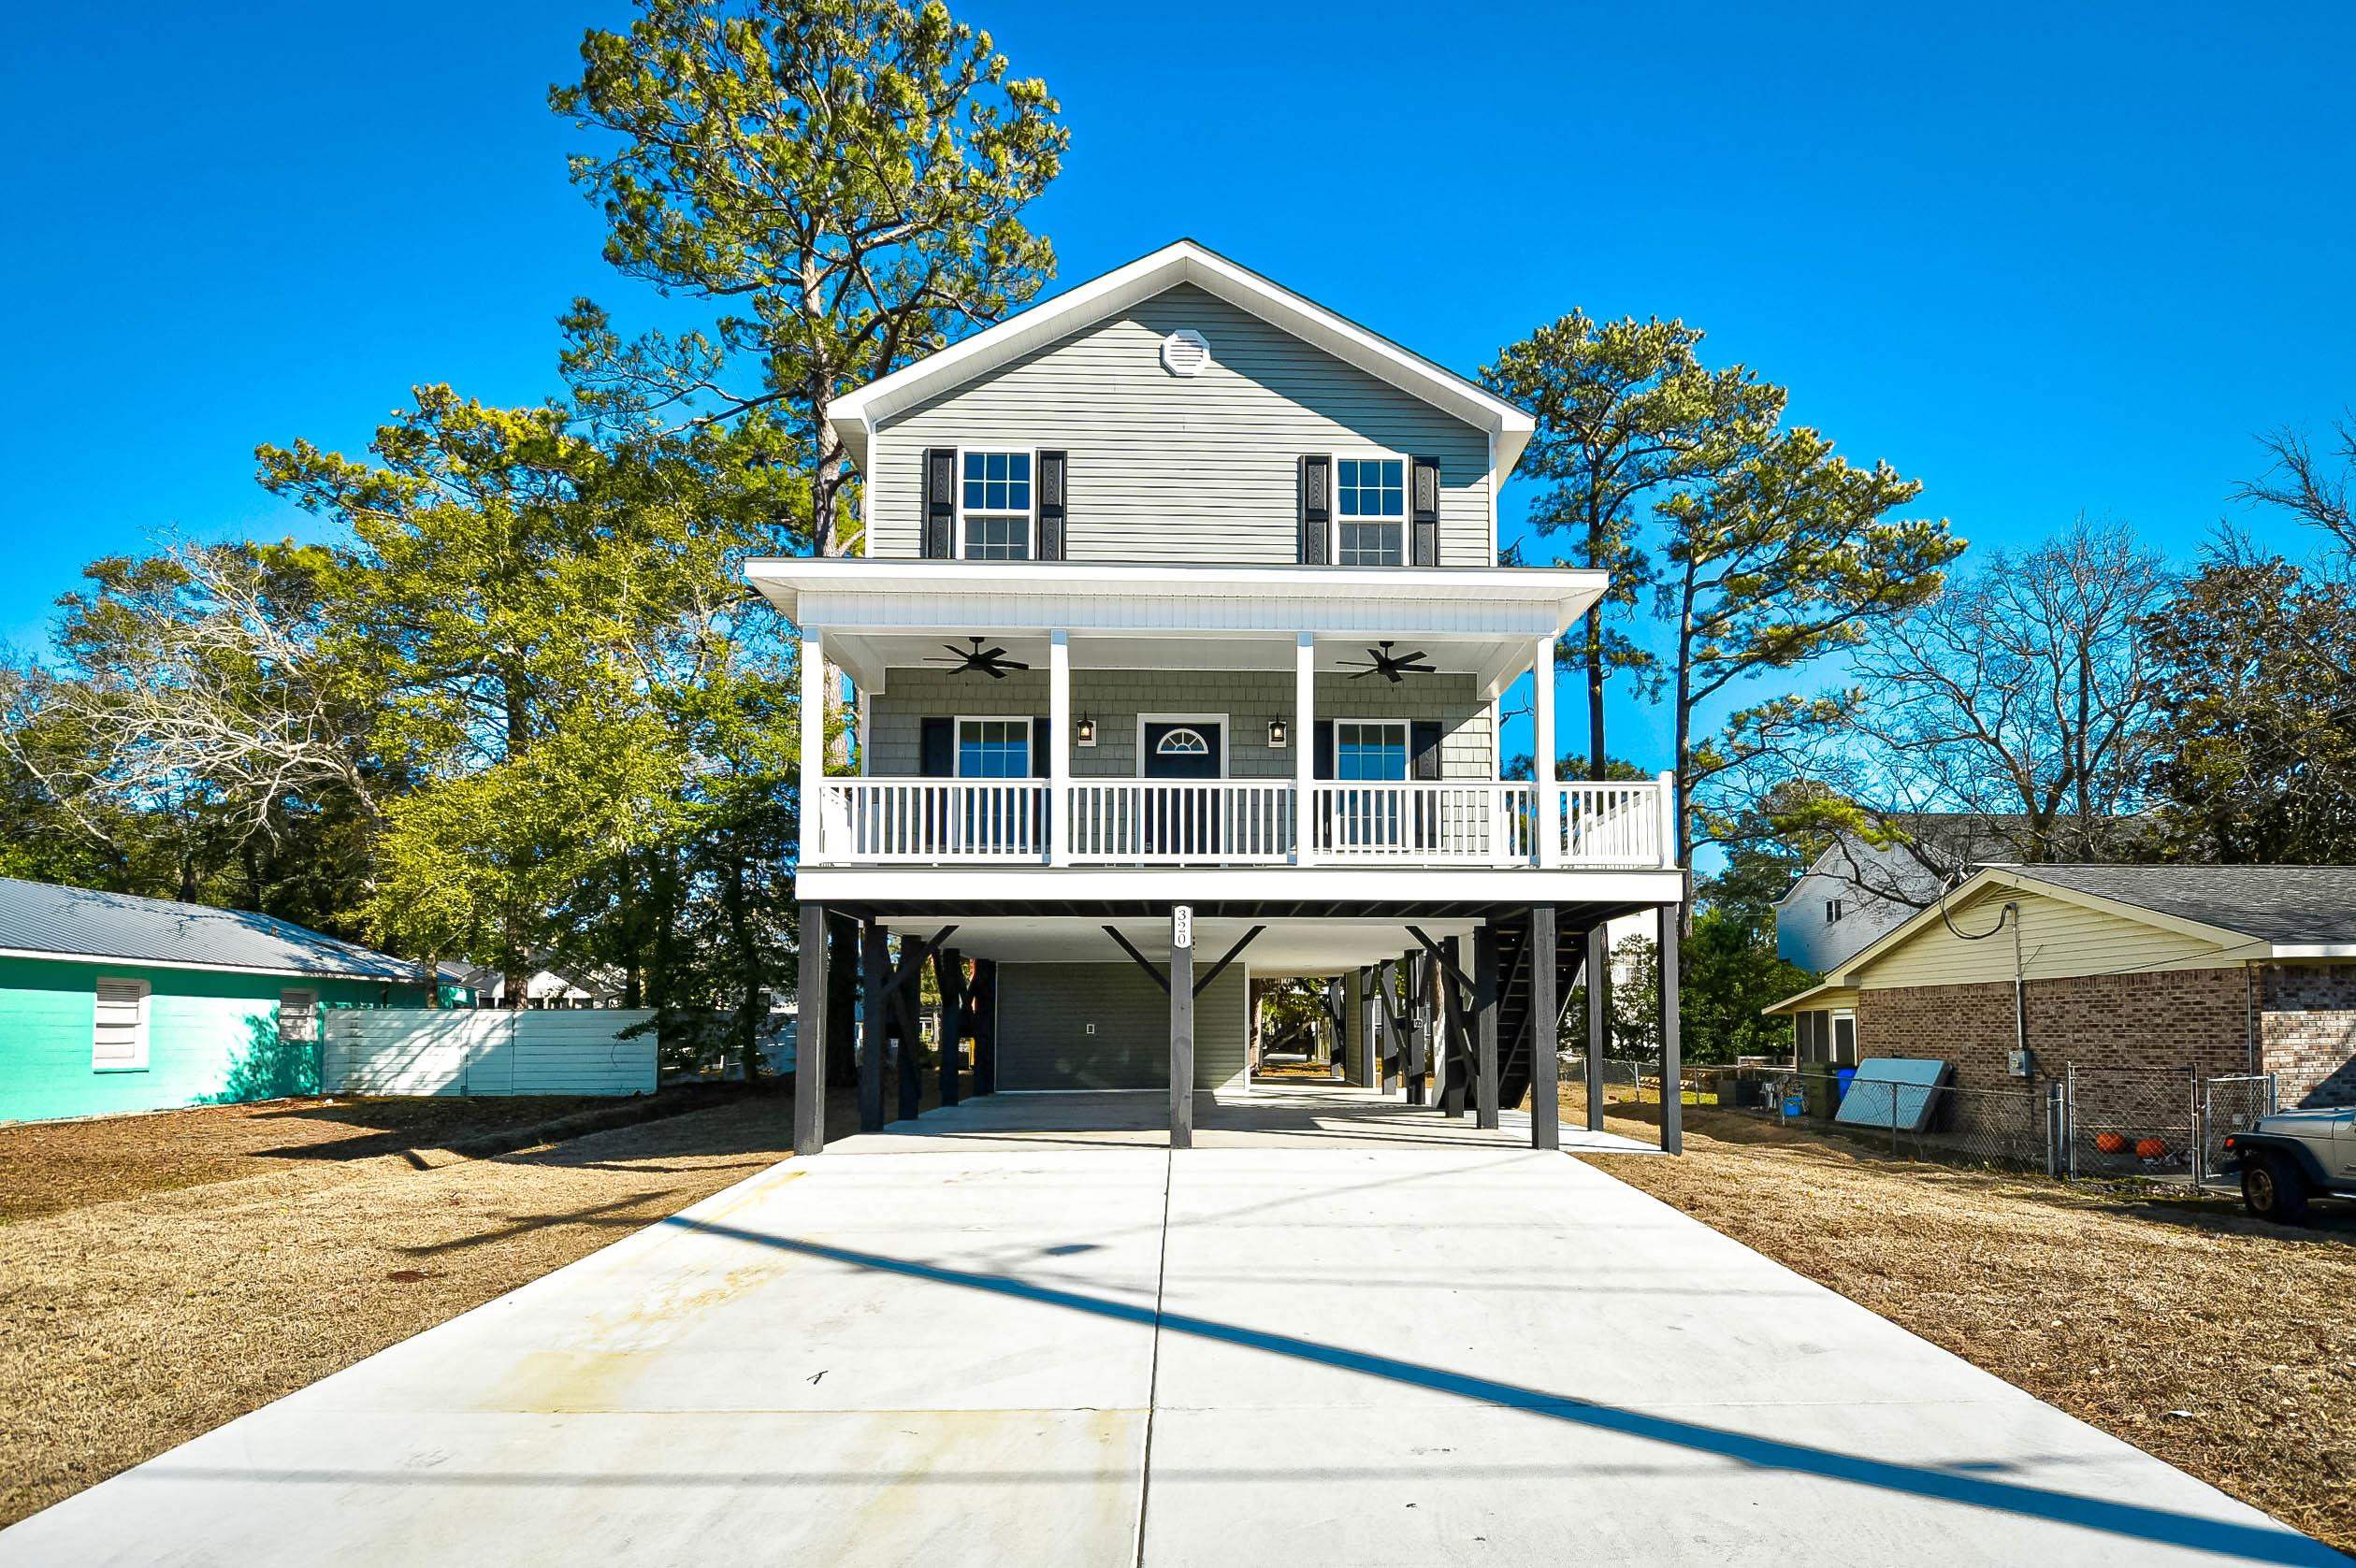
<path id="1" fill-rule="evenodd" d="M 1859 469 L 1816 431 L 1793 428 L 1706 490 L 1661 501 L 1677 864 L 1692 862 L 1694 798 L 1718 775 L 1826 718 L 1814 699 L 1781 697 L 1739 711 L 1725 737 L 1696 739 L 1699 711 L 1762 671 L 1854 647 L 1939 591 L 1963 539 L 1946 520 L 1890 518 L 1920 492 L 1890 464 Z"/>

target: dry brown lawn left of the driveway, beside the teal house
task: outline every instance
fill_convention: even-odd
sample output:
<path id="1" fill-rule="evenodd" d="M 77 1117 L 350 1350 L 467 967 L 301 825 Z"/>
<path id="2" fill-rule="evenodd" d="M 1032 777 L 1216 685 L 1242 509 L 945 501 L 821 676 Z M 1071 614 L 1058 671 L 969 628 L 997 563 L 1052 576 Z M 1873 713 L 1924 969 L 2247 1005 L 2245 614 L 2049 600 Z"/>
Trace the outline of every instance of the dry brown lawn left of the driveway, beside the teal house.
<path id="1" fill-rule="evenodd" d="M 415 1116 L 224 1107 L 0 1137 L 0 1187 L 38 1189 L 28 1217 L 0 1222 L 0 1523 L 792 1149 L 785 1095 L 483 1158 L 443 1144 L 497 1142 L 532 1102 L 405 1104 Z M 829 1104 L 829 1125 L 855 1125 L 848 1102 Z"/>

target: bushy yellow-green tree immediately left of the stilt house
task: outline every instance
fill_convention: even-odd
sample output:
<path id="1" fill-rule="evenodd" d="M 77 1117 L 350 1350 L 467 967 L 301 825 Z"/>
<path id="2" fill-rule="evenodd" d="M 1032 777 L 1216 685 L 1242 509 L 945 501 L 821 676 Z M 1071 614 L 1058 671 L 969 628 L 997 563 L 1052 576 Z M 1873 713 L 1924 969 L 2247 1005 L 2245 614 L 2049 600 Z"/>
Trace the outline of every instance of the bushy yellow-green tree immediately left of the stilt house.
<path id="1" fill-rule="evenodd" d="M 742 560 L 799 476 L 761 431 L 605 433 L 422 388 L 370 459 L 264 450 L 349 530 L 330 645 L 384 692 L 365 913 L 424 954 L 613 963 L 679 1015 L 733 998 L 752 1062 L 785 949 L 792 657 Z"/>

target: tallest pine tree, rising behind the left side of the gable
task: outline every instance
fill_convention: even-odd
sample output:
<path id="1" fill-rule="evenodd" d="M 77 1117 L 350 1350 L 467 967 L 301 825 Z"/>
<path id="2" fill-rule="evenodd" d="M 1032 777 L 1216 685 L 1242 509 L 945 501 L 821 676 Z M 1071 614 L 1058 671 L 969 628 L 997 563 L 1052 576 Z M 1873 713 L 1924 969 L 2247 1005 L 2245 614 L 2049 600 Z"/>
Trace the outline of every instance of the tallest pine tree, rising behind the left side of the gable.
<path id="1" fill-rule="evenodd" d="M 589 31 L 549 101 L 613 139 L 573 158 L 605 259 L 723 306 L 712 334 L 624 344 L 580 301 L 577 381 L 782 424 L 808 539 L 841 553 L 827 412 L 1053 275 L 1023 210 L 1063 162 L 1060 106 L 938 0 L 641 0 L 627 33 Z"/>

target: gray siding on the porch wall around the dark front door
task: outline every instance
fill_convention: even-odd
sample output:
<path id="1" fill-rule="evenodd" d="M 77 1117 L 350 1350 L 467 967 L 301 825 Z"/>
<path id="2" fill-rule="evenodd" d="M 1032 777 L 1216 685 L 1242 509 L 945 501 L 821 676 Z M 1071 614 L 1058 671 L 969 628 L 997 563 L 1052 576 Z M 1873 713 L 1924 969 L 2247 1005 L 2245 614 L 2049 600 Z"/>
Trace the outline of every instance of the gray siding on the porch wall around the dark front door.
<path id="1" fill-rule="evenodd" d="M 1046 671 L 1015 671 L 1004 680 L 938 669 L 895 669 L 886 692 L 869 704 L 872 753 L 867 772 L 884 779 L 914 777 L 924 768 L 926 716 L 992 716 L 1048 709 Z M 1227 775 L 1235 779 L 1289 779 L 1293 753 L 1268 746 L 1268 720 L 1293 713 L 1293 678 L 1284 671 L 1152 671 L 1074 669 L 1072 718 L 1096 720 L 1096 746 L 1072 746 L 1072 777 L 1131 779 L 1138 772 L 1138 713 L 1225 713 Z M 1430 718 L 1440 720 L 1440 775 L 1444 779 L 1494 779 L 1489 753 L 1489 704 L 1472 676 L 1416 676 L 1399 685 L 1369 676 L 1317 676 L 1319 718 Z M 1301 737 L 1298 744 L 1308 744 Z"/>

